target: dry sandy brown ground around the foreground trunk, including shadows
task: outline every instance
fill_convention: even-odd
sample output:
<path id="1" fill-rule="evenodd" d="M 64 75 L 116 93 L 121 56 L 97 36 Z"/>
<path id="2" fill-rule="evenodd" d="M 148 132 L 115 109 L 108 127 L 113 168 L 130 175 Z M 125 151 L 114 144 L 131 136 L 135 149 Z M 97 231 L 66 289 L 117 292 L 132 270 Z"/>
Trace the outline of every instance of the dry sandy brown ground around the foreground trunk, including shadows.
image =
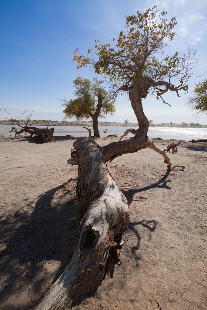
<path id="1" fill-rule="evenodd" d="M 74 186 L 64 189 L 77 177 L 77 167 L 67 165 L 74 140 L 0 140 L 1 310 L 34 309 L 70 261 L 82 216 Z M 186 171 L 166 173 L 163 157 L 150 149 L 108 164 L 128 199 L 130 224 L 120 262 L 73 310 L 152 310 L 158 300 L 163 310 L 207 308 L 207 144 L 182 141 L 170 158 Z"/>

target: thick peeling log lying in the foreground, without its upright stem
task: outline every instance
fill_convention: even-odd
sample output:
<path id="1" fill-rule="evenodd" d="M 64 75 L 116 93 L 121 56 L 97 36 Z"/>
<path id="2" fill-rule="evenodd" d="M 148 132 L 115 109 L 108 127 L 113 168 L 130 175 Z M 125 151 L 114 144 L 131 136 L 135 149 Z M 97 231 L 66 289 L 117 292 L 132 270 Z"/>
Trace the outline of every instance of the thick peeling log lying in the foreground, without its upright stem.
<path id="1" fill-rule="evenodd" d="M 74 143 L 77 193 L 86 215 L 73 257 L 36 310 L 64 309 L 99 286 L 111 248 L 119 246 L 129 222 L 128 203 L 110 176 L 101 147 L 88 138 Z"/>

